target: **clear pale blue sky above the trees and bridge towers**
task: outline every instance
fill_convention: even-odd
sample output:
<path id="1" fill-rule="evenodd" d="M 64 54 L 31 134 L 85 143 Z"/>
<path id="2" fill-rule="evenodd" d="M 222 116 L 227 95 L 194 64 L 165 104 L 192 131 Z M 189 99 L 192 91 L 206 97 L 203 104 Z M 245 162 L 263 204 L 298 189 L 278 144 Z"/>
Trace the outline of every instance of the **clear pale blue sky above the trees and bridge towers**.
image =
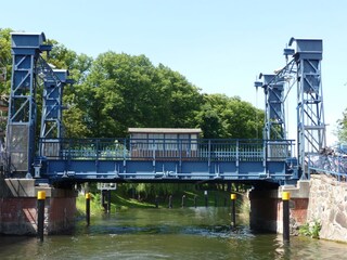
<path id="1" fill-rule="evenodd" d="M 260 108 L 264 95 L 256 94 L 256 76 L 284 66 L 282 51 L 290 38 L 322 39 L 329 143 L 347 107 L 347 1 L 20 0 L 3 1 L 0 9 L 2 28 L 43 31 L 93 57 L 108 50 L 145 54 L 202 92 L 239 95 Z M 295 102 L 296 91 L 291 95 Z M 295 106 L 288 114 L 296 118 Z M 296 128 L 294 119 L 288 125 Z"/>

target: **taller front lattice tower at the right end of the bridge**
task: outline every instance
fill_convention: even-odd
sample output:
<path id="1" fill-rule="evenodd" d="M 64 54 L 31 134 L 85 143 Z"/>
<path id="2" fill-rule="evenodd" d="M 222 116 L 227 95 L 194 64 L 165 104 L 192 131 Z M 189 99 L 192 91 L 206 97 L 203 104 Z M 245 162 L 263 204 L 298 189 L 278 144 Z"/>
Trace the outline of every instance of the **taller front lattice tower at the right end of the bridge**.
<path id="1" fill-rule="evenodd" d="M 305 172 L 308 155 L 326 146 L 321 81 L 322 40 L 294 39 L 294 61 L 297 66 L 297 142 L 298 162 Z M 306 178 L 303 174 L 303 178 Z"/>

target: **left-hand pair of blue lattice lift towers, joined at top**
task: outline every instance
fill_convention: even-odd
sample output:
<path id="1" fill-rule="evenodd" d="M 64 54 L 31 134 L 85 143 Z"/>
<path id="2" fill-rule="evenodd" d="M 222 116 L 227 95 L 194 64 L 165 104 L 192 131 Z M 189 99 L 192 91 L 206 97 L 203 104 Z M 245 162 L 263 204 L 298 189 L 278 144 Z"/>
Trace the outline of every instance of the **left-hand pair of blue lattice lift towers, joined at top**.
<path id="1" fill-rule="evenodd" d="M 37 98 L 42 92 L 40 138 L 62 138 L 63 89 L 72 80 L 66 69 L 53 69 L 41 53 L 52 49 L 43 44 L 44 34 L 12 32 L 12 78 L 7 129 L 9 172 L 33 173 L 36 145 Z M 39 147 L 41 154 L 59 152 L 59 145 Z M 47 153 L 46 153 L 47 152 Z"/>

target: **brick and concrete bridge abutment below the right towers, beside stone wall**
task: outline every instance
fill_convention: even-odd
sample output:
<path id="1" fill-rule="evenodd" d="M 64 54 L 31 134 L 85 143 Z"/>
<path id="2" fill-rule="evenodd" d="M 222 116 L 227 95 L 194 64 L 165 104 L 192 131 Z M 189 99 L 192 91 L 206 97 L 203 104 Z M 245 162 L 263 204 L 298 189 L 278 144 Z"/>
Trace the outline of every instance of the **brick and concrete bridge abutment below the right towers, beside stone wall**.
<path id="1" fill-rule="evenodd" d="M 278 190 L 256 187 L 249 193 L 250 229 L 282 233 L 282 192 L 290 192 L 290 231 L 292 235 L 298 234 L 298 227 L 307 221 L 309 191 L 309 181 L 298 181 L 296 186 L 285 185 Z"/>

